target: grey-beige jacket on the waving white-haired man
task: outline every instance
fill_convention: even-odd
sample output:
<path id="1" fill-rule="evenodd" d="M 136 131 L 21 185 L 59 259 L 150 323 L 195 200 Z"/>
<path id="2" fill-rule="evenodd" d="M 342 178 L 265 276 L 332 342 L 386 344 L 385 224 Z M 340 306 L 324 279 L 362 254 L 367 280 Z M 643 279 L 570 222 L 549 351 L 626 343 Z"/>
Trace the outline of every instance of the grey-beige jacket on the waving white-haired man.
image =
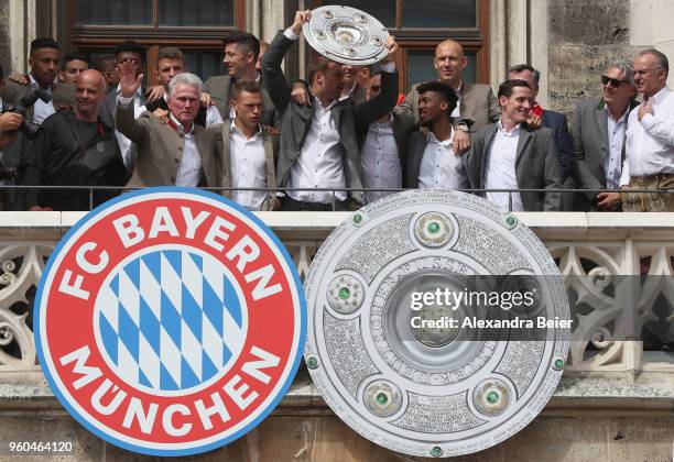
<path id="1" fill-rule="evenodd" d="M 117 130 L 135 143 L 138 157 L 128 186 L 174 186 L 185 150 L 185 139 L 171 125 L 145 111 L 133 118 L 133 105 L 117 108 Z M 221 163 L 213 151 L 213 141 L 203 127 L 193 132 L 202 160 L 206 186 L 220 187 Z"/>

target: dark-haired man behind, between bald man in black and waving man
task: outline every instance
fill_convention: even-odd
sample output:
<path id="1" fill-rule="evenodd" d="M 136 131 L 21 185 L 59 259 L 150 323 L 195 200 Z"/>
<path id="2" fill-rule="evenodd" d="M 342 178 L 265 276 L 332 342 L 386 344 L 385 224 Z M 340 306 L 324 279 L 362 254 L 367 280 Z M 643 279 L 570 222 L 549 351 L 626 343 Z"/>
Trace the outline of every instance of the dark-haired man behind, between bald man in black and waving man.
<path id="1" fill-rule="evenodd" d="M 117 74 L 121 76 L 121 68 L 129 63 L 130 68 L 133 70 L 135 76 L 142 75 L 143 68 L 145 67 L 145 50 L 138 43 L 128 41 L 120 43 L 115 48 L 115 59 L 117 63 Z M 121 95 L 121 84 L 117 88 L 108 91 L 104 106 L 100 112 L 100 119 L 110 127 L 115 124 L 115 113 L 117 111 L 117 101 Z M 133 95 L 133 116 L 140 117 L 145 110 L 145 95 L 142 88 L 139 86 L 135 94 Z M 133 169 L 135 163 L 135 156 L 138 153 L 138 146 L 134 146 L 127 136 L 124 136 L 119 130 L 115 132 L 119 148 L 121 150 L 124 165 L 129 170 Z"/>

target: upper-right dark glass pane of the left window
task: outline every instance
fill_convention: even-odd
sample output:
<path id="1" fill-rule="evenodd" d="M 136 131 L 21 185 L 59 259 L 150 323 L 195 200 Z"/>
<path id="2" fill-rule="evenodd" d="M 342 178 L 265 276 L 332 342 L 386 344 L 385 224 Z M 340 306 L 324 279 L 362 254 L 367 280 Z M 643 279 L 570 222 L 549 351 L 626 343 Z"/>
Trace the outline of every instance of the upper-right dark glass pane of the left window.
<path id="1" fill-rule="evenodd" d="M 230 28 L 235 25 L 233 1 L 160 0 L 159 25 Z"/>

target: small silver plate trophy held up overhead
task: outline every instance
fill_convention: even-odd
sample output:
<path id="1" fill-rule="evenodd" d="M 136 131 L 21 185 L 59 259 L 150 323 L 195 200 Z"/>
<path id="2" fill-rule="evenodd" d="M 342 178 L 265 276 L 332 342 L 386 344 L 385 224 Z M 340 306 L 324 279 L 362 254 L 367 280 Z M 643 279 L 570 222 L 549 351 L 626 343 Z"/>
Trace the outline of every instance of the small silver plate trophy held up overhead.
<path id="1" fill-rule="evenodd" d="M 313 10 L 303 33 L 316 52 L 341 64 L 373 64 L 388 54 L 387 28 L 351 7 L 327 6 Z"/>

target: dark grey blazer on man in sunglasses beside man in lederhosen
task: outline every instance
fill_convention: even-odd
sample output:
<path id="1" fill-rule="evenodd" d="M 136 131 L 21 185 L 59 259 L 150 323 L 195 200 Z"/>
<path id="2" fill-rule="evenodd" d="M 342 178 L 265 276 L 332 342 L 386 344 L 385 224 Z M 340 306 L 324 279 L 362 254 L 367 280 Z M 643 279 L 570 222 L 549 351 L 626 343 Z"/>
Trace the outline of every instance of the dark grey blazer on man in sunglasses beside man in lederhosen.
<path id="1" fill-rule="evenodd" d="M 632 110 L 635 105 L 635 101 L 630 102 L 629 110 Z M 576 106 L 570 132 L 574 143 L 573 176 L 576 187 L 579 189 L 606 188 L 604 162 L 609 155 L 609 145 L 604 100 L 593 99 L 579 102 Z M 626 145 L 623 140 L 621 162 L 624 162 Z M 597 191 L 575 195 L 574 209 L 597 210 L 596 197 Z"/>

